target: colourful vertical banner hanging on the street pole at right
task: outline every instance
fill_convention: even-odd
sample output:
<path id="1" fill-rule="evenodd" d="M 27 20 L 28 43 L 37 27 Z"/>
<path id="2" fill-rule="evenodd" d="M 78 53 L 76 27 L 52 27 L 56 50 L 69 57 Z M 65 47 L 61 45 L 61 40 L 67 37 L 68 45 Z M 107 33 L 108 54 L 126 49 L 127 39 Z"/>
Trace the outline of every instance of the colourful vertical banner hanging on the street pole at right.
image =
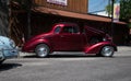
<path id="1" fill-rule="evenodd" d="M 114 4 L 114 22 L 119 22 L 120 16 L 120 3 Z"/>

